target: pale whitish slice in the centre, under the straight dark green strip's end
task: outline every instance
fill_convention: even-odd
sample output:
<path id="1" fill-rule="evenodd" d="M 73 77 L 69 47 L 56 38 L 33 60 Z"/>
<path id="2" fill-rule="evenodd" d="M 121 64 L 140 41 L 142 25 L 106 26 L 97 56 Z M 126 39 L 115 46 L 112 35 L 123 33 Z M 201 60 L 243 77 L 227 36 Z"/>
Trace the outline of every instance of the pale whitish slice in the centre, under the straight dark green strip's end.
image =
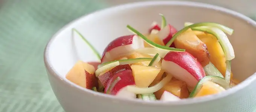
<path id="1" fill-rule="evenodd" d="M 144 48 L 140 48 L 140 49 L 135 50 L 135 52 L 139 52 L 139 53 L 150 55 L 150 56 L 155 56 L 155 54 L 158 53 L 159 56 L 161 58 L 163 58 L 163 57 L 165 57 L 165 55 L 169 51 L 160 50 L 160 49 L 157 49 L 157 48 L 154 48 L 154 47 L 144 47 Z"/>

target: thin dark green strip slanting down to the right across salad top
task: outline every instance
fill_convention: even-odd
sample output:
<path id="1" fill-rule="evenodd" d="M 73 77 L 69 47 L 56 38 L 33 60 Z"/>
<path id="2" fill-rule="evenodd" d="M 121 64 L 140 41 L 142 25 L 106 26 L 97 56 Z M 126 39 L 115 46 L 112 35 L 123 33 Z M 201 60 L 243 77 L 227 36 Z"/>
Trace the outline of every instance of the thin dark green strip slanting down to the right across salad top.
<path id="1" fill-rule="evenodd" d="M 133 31 L 135 34 L 137 34 L 139 37 L 141 37 L 146 43 L 148 43 L 152 47 L 155 47 L 155 48 L 158 48 L 161 50 L 166 50 L 166 51 L 174 51 L 174 52 L 184 52 L 185 51 L 185 49 L 176 49 L 176 48 L 166 47 L 166 46 L 156 44 L 153 41 L 149 40 L 147 37 L 145 37 L 143 34 L 141 34 L 139 31 L 137 31 L 136 29 L 131 27 L 130 25 L 127 25 L 126 27 L 128 29 L 130 29 L 131 31 Z"/>

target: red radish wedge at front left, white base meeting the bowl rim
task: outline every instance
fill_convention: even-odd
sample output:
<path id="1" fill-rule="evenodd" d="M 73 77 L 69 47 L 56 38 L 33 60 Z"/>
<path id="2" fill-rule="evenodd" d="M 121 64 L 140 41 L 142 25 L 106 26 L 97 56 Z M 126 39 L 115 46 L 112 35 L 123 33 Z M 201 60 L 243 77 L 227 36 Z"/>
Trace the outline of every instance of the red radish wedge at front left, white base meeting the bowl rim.
<path id="1" fill-rule="evenodd" d="M 111 85 L 111 84 L 114 84 L 113 83 L 114 80 L 118 77 L 120 78 L 120 80 L 116 82 L 115 85 Z M 126 89 L 127 85 L 135 85 L 134 77 L 131 70 L 125 70 L 115 74 L 108 81 L 104 92 L 107 93 L 107 91 L 109 91 L 110 92 L 109 94 L 112 94 L 118 97 L 136 98 L 136 94 L 127 91 Z M 108 90 L 110 86 L 112 86 L 113 88 L 111 90 Z"/>

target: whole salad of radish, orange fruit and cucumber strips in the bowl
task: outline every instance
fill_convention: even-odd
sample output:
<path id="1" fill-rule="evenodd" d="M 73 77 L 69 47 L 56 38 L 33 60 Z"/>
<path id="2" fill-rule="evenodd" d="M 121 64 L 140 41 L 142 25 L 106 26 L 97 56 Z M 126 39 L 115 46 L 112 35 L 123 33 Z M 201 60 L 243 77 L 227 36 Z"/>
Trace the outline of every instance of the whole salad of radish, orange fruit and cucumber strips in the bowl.
<path id="1" fill-rule="evenodd" d="M 111 41 L 102 55 L 73 29 L 101 62 L 79 61 L 66 78 L 94 91 L 145 101 L 221 94 L 238 84 L 232 80 L 235 53 L 226 35 L 233 29 L 185 22 L 177 31 L 160 15 L 162 24 L 154 22 L 147 34 L 127 25 L 132 34 Z"/>

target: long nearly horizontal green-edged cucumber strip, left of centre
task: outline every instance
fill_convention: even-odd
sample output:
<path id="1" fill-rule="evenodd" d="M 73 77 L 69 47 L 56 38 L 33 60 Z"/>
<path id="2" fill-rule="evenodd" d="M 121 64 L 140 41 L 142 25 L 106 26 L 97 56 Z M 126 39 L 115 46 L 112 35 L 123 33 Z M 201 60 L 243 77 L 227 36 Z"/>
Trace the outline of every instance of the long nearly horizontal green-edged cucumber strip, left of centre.
<path id="1" fill-rule="evenodd" d="M 135 59 L 121 59 L 121 60 L 114 60 L 111 62 L 105 62 L 100 65 L 98 65 L 98 68 L 101 68 L 102 66 L 108 65 L 110 63 L 119 62 L 119 65 L 126 65 L 126 64 L 132 64 L 137 62 L 146 62 L 151 61 L 152 58 L 135 58 Z"/>

